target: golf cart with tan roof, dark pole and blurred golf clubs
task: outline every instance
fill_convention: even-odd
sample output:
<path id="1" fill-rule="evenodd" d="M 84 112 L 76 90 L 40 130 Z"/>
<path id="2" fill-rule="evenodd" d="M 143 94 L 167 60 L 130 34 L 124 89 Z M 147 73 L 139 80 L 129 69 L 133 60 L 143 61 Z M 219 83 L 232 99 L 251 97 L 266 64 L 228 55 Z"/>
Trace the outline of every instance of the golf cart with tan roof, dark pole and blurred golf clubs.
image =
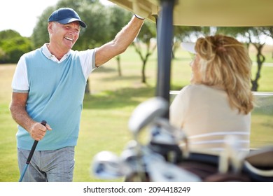
<path id="1" fill-rule="evenodd" d="M 155 97 L 141 103 L 132 113 L 129 129 L 134 140 L 127 144 L 120 157 L 106 151 L 98 153 L 92 163 L 93 174 L 102 179 L 125 176 L 125 181 L 273 181 L 273 146 L 239 155 L 231 139 L 221 155 L 191 152 L 187 147 L 186 135 L 168 122 L 173 25 L 273 26 L 273 1 L 112 2 L 157 23 L 157 90 Z M 142 145 L 139 132 L 148 125 L 151 125 L 151 141 L 148 145 Z M 181 142 L 183 148 L 180 147 Z"/>

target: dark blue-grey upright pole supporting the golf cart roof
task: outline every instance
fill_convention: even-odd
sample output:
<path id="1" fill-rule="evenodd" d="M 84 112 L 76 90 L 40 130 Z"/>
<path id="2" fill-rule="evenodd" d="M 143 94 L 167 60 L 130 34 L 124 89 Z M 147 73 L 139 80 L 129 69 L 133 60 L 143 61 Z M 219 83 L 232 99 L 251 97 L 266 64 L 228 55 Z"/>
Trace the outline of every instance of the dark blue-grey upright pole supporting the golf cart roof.
<path id="1" fill-rule="evenodd" d="M 172 39 L 173 39 L 173 10 L 176 0 L 161 0 L 162 10 L 158 17 L 158 81 L 156 96 L 163 97 L 169 102 Z M 169 118 L 169 110 L 164 116 Z"/>

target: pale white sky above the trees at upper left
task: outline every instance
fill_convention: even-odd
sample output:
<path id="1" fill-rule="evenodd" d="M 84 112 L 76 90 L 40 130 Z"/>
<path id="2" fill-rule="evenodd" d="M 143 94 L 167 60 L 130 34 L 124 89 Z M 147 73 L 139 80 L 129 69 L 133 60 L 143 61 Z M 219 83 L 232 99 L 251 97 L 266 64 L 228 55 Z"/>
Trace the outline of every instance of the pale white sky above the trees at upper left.
<path id="1" fill-rule="evenodd" d="M 38 17 L 59 0 L 6 0 L 0 6 L 0 31 L 12 29 L 21 36 L 31 36 Z M 102 3 L 109 4 L 107 0 Z"/>

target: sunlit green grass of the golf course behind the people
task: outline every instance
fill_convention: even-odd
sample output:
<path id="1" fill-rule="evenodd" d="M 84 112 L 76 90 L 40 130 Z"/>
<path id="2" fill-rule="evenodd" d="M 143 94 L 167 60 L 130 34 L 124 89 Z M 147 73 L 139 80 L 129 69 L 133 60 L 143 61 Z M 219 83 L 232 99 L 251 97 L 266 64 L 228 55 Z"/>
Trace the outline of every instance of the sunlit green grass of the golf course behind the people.
<path id="1" fill-rule="evenodd" d="M 178 50 L 172 62 L 171 90 L 180 90 L 188 85 L 191 73 L 189 63 L 190 55 Z M 141 61 L 133 48 L 121 55 L 121 66 L 121 77 L 118 76 L 116 59 L 107 62 L 90 76 L 91 94 L 87 94 L 83 102 L 73 181 L 102 181 L 90 175 L 92 158 L 100 151 L 112 151 L 120 155 L 132 139 L 127 128 L 132 111 L 155 95 L 156 53 L 146 66 L 147 84 L 141 83 Z M 20 177 L 15 140 L 17 125 L 8 110 L 14 70 L 14 64 L 0 65 L 0 181 L 8 182 L 18 181 Z M 273 91 L 273 66 L 262 67 L 261 75 L 259 91 Z M 273 114 L 269 112 L 273 110 L 268 106 L 265 108 L 267 110 L 260 108 L 260 111 L 253 112 L 253 147 L 273 143 Z"/>

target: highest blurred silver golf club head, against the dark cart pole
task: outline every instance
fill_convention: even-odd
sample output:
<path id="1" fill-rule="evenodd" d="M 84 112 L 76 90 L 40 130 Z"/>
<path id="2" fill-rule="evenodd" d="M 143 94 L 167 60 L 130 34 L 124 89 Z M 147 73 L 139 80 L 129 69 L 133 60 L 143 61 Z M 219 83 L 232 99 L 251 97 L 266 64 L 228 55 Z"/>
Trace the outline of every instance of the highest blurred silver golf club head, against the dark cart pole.
<path id="1" fill-rule="evenodd" d="M 142 102 L 134 109 L 129 120 L 129 129 L 137 134 L 142 128 L 146 127 L 154 118 L 165 114 L 169 109 L 168 102 L 162 97 L 153 97 L 146 102 Z"/>

